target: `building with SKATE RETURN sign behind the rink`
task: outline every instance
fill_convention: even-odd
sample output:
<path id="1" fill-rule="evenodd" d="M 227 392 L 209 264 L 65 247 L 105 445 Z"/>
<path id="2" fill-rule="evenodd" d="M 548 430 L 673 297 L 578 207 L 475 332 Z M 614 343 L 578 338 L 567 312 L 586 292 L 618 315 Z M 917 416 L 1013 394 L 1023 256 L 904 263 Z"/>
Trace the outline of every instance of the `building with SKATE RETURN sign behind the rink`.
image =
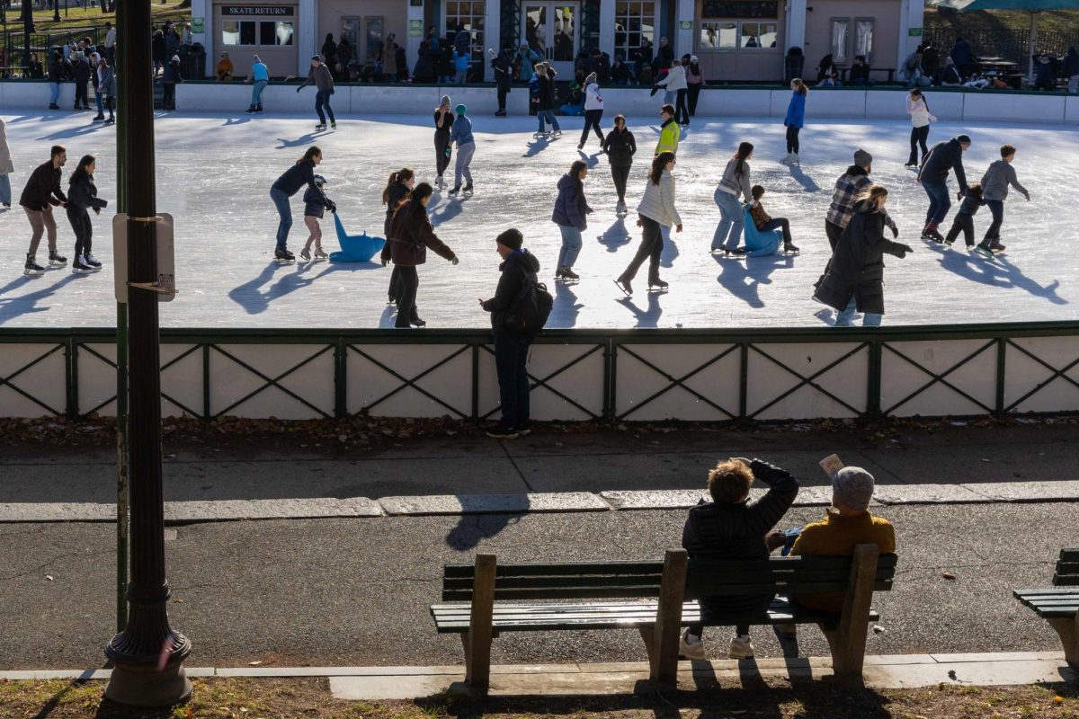
<path id="1" fill-rule="evenodd" d="M 573 77 L 582 52 L 599 47 L 631 59 L 668 38 L 677 57 L 695 54 L 712 82 L 777 82 L 792 46 L 816 79 L 820 58 L 838 68 L 864 55 L 874 68 L 899 68 L 921 36 L 921 0 L 193 0 L 192 29 L 206 50 L 206 74 L 222 51 L 236 74 L 258 54 L 274 78 L 305 77 L 327 34 L 346 38 L 359 63 L 388 36 L 405 47 L 409 69 L 429 27 L 459 26 L 472 36 L 470 81 L 492 80 L 487 49 L 528 44 Z M 883 75 L 876 75 L 883 78 Z"/>

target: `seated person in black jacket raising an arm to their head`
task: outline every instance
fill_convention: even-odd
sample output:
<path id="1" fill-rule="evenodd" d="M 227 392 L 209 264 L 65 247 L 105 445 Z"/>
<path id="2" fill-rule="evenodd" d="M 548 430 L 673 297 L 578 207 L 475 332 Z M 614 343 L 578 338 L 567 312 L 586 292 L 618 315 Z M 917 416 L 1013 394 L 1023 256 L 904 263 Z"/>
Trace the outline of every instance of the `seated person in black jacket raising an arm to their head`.
<path id="1" fill-rule="evenodd" d="M 768 485 L 768 494 L 749 502 L 753 480 Z M 682 530 L 682 547 L 689 559 L 767 559 L 765 537 L 794 503 L 798 482 L 789 472 L 767 462 L 734 457 L 721 461 L 708 472 L 708 494 L 712 501 L 689 510 Z M 775 594 L 700 597 L 700 617 L 707 622 L 735 625 L 730 659 L 749 659 L 753 642 L 749 622 L 768 611 Z M 679 653 L 686 659 L 705 659 L 702 624 L 686 628 L 679 642 Z"/>

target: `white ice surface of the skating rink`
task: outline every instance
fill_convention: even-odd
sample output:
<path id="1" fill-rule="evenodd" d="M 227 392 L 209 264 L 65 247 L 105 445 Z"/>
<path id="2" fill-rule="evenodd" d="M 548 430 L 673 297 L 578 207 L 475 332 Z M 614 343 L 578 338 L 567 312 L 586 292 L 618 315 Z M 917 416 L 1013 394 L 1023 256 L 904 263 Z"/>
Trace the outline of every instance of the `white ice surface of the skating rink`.
<path id="1" fill-rule="evenodd" d="M 618 111 L 610 108 L 604 129 Z M 85 328 L 114 324 L 111 215 L 115 206 L 114 133 L 92 124 L 93 113 L 4 116 L 15 162 L 11 211 L 0 213 L 0 327 Z M 586 155 L 576 150 L 582 117 L 559 119 L 565 135 L 535 141 L 532 117 L 475 116 L 474 196 L 463 201 L 436 193 L 428 209 L 438 235 L 461 264 L 452 266 L 428 252 L 420 268 L 418 306 L 431 328 L 486 327 L 477 298 L 489 298 L 498 279 L 494 237 L 517 226 L 536 254 L 542 279 L 556 296 L 549 327 L 558 328 L 734 328 L 819 327 L 831 310 L 810 299 L 814 281 L 829 258 L 824 215 L 833 183 L 851 164 L 856 148 L 873 156 L 873 178 L 889 191 L 888 210 L 900 226 L 901 241 L 914 247 L 905 260 L 886 257 L 886 324 L 933 324 L 1063 320 L 1079 316 L 1079 257 L 1076 195 L 1079 191 L 1079 128 L 1007 126 L 993 123 L 938 123 L 930 143 L 967 133 L 973 146 L 965 156 L 970 181 L 1009 142 L 1019 148 L 1014 167 L 1032 202 L 1011 192 L 1001 233 L 1007 257 L 987 260 L 957 249 L 944 250 L 918 239 L 927 197 L 914 172 L 903 168 L 910 124 L 898 121 L 827 121 L 807 117 L 802 130 L 802 166 L 777 161 L 784 154 L 779 121 L 696 119 L 684 134 L 675 168 L 678 208 L 684 222 L 671 234 L 663 255 L 666 293 L 644 291 L 646 272 L 638 275 L 632 299 L 613 279 L 632 258 L 640 240 L 632 212 L 643 192 L 658 125 L 653 117 L 630 116 L 640 160 L 629 181 L 631 213 L 614 215 L 615 193 L 606 158 L 595 137 Z M 382 234 L 380 204 L 388 174 L 412 167 L 421 181 L 434 178 L 431 116 L 379 116 L 377 121 L 339 117 L 338 129 L 314 134 L 312 117 L 250 117 L 243 113 L 173 114 L 156 130 L 158 209 L 176 218 L 176 282 L 180 290 L 161 305 L 163 327 L 377 328 L 393 324 L 386 305 L 388 268 L 364 264 L 316 263 L 277 266 L 273 262 L 277 216 L 270 184 L 313 142 L 322 147 L 318 168 L 329 181 L 350 233 Z M 791 219 L 801 257 L 713 258 L 709 253 L 719 209 L 712 194 L 724 164 L 740 140 L 756 146 L 751 161 L 754 183 L 767 189 L 766 210 Z M 97 155 L 97 186 L 110 203 L 94 220 L 94 253 L 104 271 L 76 276 L 69 267 L 24 277 L 29 223 L 18 196 L 31 169 L 49 158 L 54 143 L 66 146 L 64 183 L 80 156 Z M 595 212 L 588 218 L 584 249 L 574 267 L 575 285 L 554 281 L 560 247 L 550 221 L 555 184 L 574 160 L 585 157 L 586 180 Z M 452 168 L 451 168 L 452 169 Z M 448 181 L 452 178 L 447 177 Z M 953 179 L 952 186 L 955 188 Z M 297 254 L 306 233 L 301 195 L 292 198 L 289 248 Z M 958 209 L 953 204 L 944 233 Z M 73 234 L 57 212 L 59 248 L 69 259 Z M 983 208 L 974 218 L 978 239 L 988 225 Z M 337 249 L 332 218 L 323 222 L 324 247 Z M 44 264 L 42 240 L 38 253 Z"/>

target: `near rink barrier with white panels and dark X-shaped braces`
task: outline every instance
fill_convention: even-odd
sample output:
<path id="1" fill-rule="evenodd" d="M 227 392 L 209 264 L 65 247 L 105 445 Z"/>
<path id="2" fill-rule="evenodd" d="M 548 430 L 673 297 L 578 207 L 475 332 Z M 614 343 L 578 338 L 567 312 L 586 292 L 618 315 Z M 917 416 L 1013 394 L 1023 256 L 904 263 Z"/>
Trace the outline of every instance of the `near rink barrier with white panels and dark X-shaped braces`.
<path id="1" fill-rule="evenodd" d="M 115 412 L 114 330 L 0 329 L 0 416 Z M 162 330 L 162 414 L 492 419 L 486 330 Z M 1079 412 L 1079 321 L 551 330 L 537 420 L 760 421 Z"/>

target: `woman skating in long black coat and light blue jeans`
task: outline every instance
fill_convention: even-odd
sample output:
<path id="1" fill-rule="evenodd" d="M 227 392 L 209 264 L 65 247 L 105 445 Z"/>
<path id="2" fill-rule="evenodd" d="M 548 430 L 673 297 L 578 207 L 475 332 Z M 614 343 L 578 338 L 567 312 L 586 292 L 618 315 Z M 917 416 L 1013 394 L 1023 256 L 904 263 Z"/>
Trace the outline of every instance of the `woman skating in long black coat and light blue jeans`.
<path id="1" fill-rule="evenodd" d="M 843 231 L 828 274 L 814 299 L 835 309 L 835 327 L 850 327 L 855 309 L 862 313 L 864 327 L 879 327 L 884 317 L 884 255 L 900 260 L 914 250 L 885 239 L 888 202 L 884 185 L 871 184 L 855 202 L 855 213 Z"/>

